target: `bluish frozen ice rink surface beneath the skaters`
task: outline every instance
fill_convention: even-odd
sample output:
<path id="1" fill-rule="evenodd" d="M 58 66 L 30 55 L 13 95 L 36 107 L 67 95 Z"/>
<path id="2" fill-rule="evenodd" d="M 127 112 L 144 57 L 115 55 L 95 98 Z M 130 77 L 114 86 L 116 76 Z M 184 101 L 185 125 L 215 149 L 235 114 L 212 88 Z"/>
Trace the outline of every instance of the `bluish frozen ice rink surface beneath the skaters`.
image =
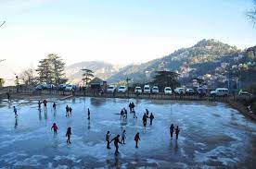
<path id="1" fill-rule="evenodd" d="M 0 103 L 0 168 L 253 168 L 256 166 L 256 125 L 224 103 L 160 100 L 75 98 L 49 99 L 47 111 L 37 102 L 14 100 Z M 57 103 L 57 111 L 52 103 Z M 128 111 L 127 120 L 118 115 L 135 103 L 137 119 Z M 19 118 L 14 118 L 13 106 Z M 72 115 L 65 116 L 65 107 Z M 91 119 L 87 120 L 87 108 Z M 155 115 L 144 128 L 145 109 Z M 58 125 L 54 136 L 50 127 Z M 178 141 L 170 139 L 169 127 L 179 125 Z M 66 143 L 72 127 L 71 144 Z M 111 138 L 126 129 L 125 145 L 114 155 L 106 149 L 105 134 Z M 134 134 L 140 132 L 139 149 Z"/>

